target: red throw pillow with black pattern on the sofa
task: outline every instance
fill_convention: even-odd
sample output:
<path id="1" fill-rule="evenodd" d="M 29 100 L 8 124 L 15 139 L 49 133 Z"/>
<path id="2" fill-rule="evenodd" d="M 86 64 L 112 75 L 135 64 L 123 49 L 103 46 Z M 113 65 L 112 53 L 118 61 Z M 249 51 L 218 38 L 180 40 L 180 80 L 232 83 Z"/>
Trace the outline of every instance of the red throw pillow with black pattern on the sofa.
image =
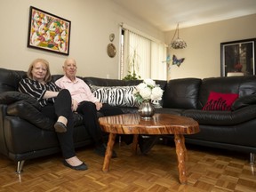
<path id="1" fill-rule="evenodd" d="M 231 110 L 231 106 L 238 96 L 236 93 L 210 92 L 203 110 Z"/>

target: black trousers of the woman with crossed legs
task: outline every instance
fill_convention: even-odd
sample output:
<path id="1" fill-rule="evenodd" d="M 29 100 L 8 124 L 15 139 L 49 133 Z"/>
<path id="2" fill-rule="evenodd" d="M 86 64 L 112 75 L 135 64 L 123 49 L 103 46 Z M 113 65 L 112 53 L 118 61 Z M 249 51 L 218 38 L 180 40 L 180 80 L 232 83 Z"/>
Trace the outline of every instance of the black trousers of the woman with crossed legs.
<path id="1" fill-rule="evenodd" d="M 73 128 L 74 118 L 71 109 L 72 99 L 68 90 L 61 90 L 58 94 L 55 103 L 48 103 L 42 108 L 42 113 L 54 121 L 59 116 L 65 116 L 68 119 L 67 132 L 56 132 L 60 142 L 62 155 L 65 159 L 76 156 L 74 141 L 73 141 Z"/>

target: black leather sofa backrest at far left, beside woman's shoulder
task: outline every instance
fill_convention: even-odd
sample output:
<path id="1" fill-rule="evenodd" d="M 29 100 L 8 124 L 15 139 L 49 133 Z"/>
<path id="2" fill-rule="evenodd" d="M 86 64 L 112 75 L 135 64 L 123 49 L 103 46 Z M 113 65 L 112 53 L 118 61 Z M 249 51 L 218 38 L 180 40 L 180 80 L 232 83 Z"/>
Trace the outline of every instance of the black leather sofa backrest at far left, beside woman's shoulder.
<path id="1" fill-rule="evenodd" d="M 0 93 L 18 91 L 20 79 L 25 76 L 25 71 L 0 68 Z"/>

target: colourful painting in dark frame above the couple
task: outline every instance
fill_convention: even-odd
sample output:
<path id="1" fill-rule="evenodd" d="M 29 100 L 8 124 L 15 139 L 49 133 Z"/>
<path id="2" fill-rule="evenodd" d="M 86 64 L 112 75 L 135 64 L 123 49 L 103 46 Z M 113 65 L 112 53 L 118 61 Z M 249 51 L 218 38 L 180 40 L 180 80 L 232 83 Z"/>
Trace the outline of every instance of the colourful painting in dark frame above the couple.
<path id="1" fill-rule="evenodd" d="M 71 21 L 30 6 L 29 48 L 69 55 Z"/>

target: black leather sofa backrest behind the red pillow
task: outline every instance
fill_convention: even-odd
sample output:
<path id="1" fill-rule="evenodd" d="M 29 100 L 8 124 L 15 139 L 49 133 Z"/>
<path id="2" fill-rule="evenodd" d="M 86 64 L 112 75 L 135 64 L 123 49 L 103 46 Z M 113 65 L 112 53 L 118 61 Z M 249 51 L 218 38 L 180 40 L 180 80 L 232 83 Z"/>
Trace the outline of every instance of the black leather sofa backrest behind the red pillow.
<path id="1" fill-rule="evenodd" d="M 256 76 L 223 76 L 202 80 L 197 108 L 204 107 L 210 92 L 237 93 L 239 98 L 256 93 Z"/>

